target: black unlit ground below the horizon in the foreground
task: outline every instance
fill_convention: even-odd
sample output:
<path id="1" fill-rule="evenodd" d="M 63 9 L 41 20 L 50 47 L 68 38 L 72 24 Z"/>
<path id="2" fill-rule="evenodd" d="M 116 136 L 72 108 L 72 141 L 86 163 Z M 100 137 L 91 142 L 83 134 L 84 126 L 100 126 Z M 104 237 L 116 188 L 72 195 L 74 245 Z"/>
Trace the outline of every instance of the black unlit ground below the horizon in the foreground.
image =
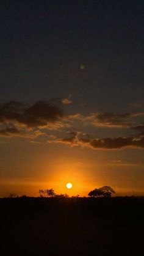
<path id="1" fill-rule="evenodd" d="M 0 199 L 0 255 L 143 255 L 144 199 Z"/>

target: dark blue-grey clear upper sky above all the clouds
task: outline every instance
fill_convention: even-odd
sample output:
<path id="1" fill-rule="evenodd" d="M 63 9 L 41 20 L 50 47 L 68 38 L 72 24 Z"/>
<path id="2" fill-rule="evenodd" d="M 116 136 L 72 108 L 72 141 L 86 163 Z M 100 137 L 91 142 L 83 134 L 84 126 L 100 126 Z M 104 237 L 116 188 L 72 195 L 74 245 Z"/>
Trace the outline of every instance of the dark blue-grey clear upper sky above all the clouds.
<path id="1" fill-rule="evenodd" d="M 143 101 L 143 43 L 143 1 L 1 1 L 0 100 L 124 111 Z"/>

